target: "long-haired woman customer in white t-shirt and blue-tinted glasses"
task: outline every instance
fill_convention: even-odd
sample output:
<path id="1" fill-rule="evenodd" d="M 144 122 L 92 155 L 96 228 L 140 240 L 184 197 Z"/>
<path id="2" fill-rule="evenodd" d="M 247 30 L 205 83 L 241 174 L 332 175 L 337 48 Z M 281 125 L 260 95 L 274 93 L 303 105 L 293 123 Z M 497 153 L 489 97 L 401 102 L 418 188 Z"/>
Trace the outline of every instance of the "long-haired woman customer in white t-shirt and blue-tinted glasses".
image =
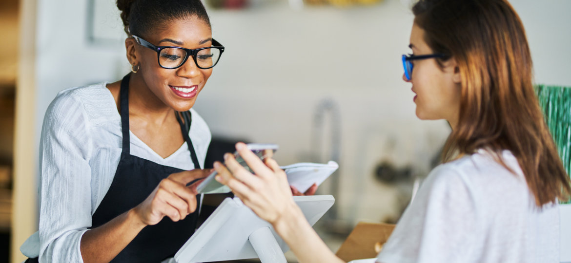
<path id="1" fill-rule="evenodd" d="M 538 106 L 521 20 L 505 0 L 420 0 L 403 80 L 416 115 L 452 127 L 377 262 L 558 262 L 569 177 Z M 293 202 L 278 164 L 243 143 L 217 180 L 269 221 L 299 262 L 341 262 Z"/>

